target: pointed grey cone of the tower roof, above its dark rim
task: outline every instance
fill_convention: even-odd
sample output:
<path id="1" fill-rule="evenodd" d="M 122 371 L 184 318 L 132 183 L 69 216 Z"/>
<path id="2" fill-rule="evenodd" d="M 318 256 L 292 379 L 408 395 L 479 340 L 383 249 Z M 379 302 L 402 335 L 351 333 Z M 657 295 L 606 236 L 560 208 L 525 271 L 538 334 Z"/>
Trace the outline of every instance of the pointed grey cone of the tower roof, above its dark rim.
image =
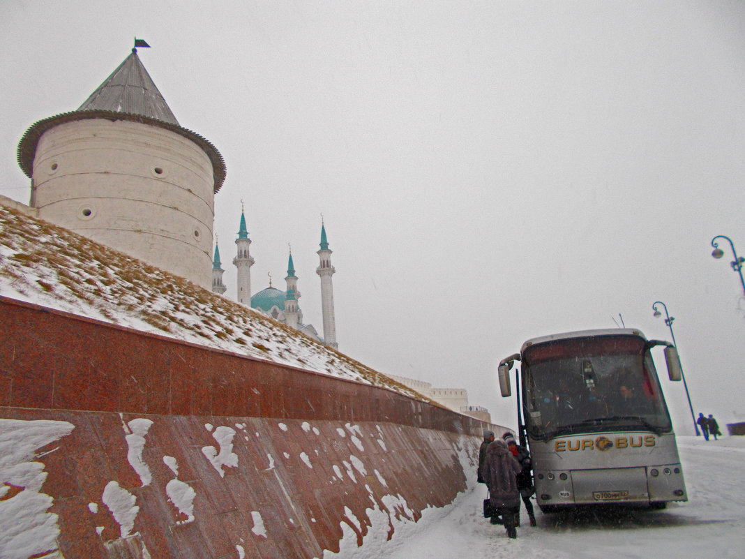
<path id="1" fill-rule="evenodd" d="M 77 110 L 110 110 L 179 125 L 135 48 Z"/>

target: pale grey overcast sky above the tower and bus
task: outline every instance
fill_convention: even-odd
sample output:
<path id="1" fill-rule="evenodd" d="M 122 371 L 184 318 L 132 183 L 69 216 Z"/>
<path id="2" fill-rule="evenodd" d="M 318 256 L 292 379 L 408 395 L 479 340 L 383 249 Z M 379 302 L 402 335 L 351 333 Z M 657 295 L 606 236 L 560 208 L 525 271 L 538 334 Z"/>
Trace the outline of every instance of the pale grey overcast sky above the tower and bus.
<path id="1" fill-rule="evenodd" d="M 28 203 L 25 130 L 75 110 L 130 53 L 226 160 L 226 296 L 245 202 L 252 288 L 323 332 L 321 213 L 339 349 L 466 388 L 515 425 L 498 361 L 527 338 L 627 326 L 670 339 L 696 411 L 745 412 L 741 1 L 0 3 L 0 194 Z M 681 383 L 657 361 L 679 432 Z"/>

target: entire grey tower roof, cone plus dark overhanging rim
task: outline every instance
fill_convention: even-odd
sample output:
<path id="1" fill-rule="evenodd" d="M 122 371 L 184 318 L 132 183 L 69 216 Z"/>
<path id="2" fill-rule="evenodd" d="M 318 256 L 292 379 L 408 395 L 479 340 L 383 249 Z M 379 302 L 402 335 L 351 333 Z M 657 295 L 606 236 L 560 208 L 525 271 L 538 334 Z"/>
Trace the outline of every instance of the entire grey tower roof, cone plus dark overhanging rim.
<path id="1" fill-rule="evenodd" d="M 197 144 L 209 157 L 215 192 L 225 182 L 225 160 L 220 152 L 199 134 L 180 126 L 134 48 L 80 108 L 37 121 L 26 130 L 18 144 L 18 164 L 26 176 L 31 177 L 34 170 L 34 156 L 43 133 L 58 124 L 85 119 L 135 121 L 171 130 Z"/>

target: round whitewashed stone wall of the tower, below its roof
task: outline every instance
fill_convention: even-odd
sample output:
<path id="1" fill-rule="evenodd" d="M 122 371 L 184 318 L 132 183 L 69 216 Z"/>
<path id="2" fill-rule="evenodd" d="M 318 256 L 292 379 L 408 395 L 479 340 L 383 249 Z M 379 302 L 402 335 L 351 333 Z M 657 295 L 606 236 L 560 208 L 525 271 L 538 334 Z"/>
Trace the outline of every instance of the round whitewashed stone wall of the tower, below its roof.
<path id="1" fill-rule="evenodd" d="M 212 162 L 185 137 L 86 119 L 42 134 L 31 206 L 39 218 L 209 289 L 214 186 Z"/>

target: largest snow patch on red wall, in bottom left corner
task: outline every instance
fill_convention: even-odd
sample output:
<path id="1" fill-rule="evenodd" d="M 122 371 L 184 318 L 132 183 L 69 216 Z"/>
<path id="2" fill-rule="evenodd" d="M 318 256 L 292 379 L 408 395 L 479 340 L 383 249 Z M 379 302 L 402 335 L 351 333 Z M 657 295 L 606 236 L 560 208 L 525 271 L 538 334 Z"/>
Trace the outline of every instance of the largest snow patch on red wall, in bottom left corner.
<path id="1" fill-rule="evenodd" d="M 54 499 L 41 493 L 47 473 L 35 452 L 69 435 L 66 421 L 0 419 L 0 557 L 57 557 L 60 527 L 48 513 Z M 51 452 L 54 452 L 52 450 Z"/>

